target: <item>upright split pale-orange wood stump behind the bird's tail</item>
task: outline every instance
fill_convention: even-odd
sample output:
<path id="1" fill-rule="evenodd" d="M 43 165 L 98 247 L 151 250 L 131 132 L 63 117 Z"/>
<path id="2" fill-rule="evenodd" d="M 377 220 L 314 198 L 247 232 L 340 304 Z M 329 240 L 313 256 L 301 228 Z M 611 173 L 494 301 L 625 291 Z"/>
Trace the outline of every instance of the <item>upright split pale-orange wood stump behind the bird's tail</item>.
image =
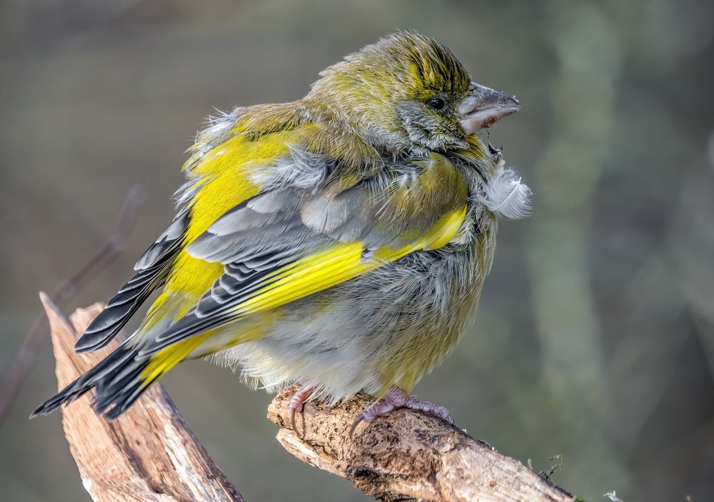
<path id="1" fill-rule="evenodd" d="M 117 341 L 78 356 L 74 342 L 101 304 L 65 318 L 40 293 L 54 346 L 59 388 L 101 361 Z M 161 385 L 114 421 L 94 413 L 89 396 L 62 409 L 64 434 L 84 487 L 99 502 L 238 502 L 243 497 L 216 467 Z"/>

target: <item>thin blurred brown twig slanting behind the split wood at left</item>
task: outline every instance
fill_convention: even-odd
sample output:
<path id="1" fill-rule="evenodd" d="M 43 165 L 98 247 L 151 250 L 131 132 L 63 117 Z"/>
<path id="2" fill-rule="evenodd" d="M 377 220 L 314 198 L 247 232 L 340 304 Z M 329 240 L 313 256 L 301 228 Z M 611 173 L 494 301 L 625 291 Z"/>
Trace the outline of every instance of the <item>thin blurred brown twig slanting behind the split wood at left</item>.
<path id="1" fill-rule="evenodd" d="M 126 192 L 124 204 L 121 205 L 116 224 L 104 244 L 96 253 L 89 257 L 72 276 L 59 283 L 52 292 L 52 297 L 59 306 L 66 306 L 76 296 L 81 288 L 96 276 L 96 273 L 109 266 L 124 250 L 129 234 L 134 229 L 139 216 L 139 207 L 146 199 L 146 189 L 141 184 L 136 184 Z M 6 373 L 0 390 L 0 427 L 5 422 L 12 408 L 17 394 L 20 391 L 40 349 L 49 340 L 47 336 L 49 326 L 44 313 L 40 313 L 32 323 L 32 327 L 25 336 L 17 356 Z"/>

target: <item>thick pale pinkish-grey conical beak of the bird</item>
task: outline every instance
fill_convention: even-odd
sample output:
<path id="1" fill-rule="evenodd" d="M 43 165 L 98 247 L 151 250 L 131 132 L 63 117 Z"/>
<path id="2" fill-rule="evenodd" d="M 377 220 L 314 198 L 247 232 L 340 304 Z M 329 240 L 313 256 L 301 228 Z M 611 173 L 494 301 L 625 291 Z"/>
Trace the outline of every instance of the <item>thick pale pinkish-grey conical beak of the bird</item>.
<path id="1" fill-rule="evenodd" d="M 458 114 L 466 134 L 473 134 L 520 109 L 516 98 L 471 82 L 468 94 L 458 106 Z"/>

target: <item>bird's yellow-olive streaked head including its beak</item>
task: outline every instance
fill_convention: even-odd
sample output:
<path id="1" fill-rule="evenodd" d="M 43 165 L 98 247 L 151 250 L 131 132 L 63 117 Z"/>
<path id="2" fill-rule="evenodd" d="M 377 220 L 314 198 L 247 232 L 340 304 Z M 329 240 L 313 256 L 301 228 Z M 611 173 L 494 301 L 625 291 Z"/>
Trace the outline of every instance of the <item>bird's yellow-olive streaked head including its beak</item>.
<path id="1" fill-rule="evenodd" d="M 306 101 L 391 151 L 466 149 L 467 136 L 520 109 L 471 81 L 442 44 L 398 31 L 321 73 Z"/>

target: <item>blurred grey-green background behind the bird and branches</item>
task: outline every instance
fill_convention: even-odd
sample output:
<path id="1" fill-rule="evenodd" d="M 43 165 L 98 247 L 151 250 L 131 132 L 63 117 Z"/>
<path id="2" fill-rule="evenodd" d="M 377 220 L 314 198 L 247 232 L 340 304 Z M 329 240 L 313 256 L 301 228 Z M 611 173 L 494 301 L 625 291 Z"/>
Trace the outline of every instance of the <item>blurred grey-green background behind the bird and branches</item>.
<path id="1" fill-rule="evenodd" d="M 491 141 L 535 192 L 501 226 L 475 323 L 418 386 L 458 425 L 588 500 L 714 498 L 714 4 L 651 1 L 6 0 L 0 6 L 0 376 L 137 182 L 106 301 L 171 219 L 205 116 L 291 101 L 395 28 L 516 94 Z M 185 363 L 166 386 L 249 501 L 361 501 L 274 441 L 270 396 Z M 0 498 L 84 501 L 49 344 L 0 428 Z M 140 433 L 140 431 L 137 431 Z"/>

